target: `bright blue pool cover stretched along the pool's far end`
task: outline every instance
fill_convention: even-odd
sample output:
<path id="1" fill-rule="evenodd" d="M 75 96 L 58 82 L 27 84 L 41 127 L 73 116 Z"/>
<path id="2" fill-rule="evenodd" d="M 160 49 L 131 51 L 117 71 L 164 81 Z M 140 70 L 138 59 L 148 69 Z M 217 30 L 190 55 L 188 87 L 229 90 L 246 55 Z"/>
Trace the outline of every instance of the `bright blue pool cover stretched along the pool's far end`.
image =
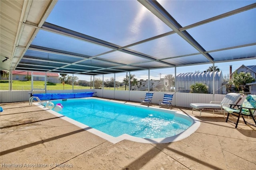
<path id="1" fill-rule="evenodd" d="M 68 99 L 68 98 L 86 98 L 92 97 L 95 92 L 82 92 L 82 93 L 43 93 L 33 94 L 40 100 L 54 100 L 54 99 Z M 34 99 L 36 100 L 36 99 Z"/>

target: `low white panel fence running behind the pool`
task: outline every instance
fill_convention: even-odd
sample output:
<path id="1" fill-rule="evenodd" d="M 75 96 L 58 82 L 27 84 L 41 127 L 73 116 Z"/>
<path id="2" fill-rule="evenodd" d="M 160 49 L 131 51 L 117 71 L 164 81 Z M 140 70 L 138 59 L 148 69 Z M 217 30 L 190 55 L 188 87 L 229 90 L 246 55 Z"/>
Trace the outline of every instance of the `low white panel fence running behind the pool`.
<path id="1" fill-rule="evenodd" d="M 80 92 L 96 92 L 94 96 L 102 98 L 110 98 L 116 100 L 126 100 L 140 102 L 144 100 L 146 91 L 122 91 L 122 90 L 102 90 L 102 89 L 88 89 L 88 90 L 47 90 L 47 93 L 80 93 Z M 1 91 L 0 103 L 9 102 L 24 102 L 29 101 L 31 91 Z M 158 104 L 162 101 L 164 92 L 154 92 L 152 103 Z M 181 93 L 174 94 L 173 106 L 190 107 L 190 103 L 209 103 L 210 101 L 222 101 L 225 94 L 196 94 L 196 93 Z M 243 100 L 240 101 L 240 103 Z"/>

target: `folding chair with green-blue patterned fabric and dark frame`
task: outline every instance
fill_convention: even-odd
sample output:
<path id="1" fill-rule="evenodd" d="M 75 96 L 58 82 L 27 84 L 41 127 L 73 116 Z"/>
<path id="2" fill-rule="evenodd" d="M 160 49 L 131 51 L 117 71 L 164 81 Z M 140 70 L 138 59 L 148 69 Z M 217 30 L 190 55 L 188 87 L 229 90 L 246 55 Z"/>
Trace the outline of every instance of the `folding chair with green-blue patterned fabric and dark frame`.
<path id="1" fill-rule="evenodd" d="M 238 109 L 232 108 L 233 106 L 237 106 Z M 253 115 L 255 110 L 256 110 L 256 95 L 248 94 L 241 106 L 230 104 L 230 107 L 223 106 L 223 108 L 224 108 L 225 111 L 228 112 L 226 122 L 231 121 L 232 123 L 236 124 L 236 128 L 237 128 L 240 116 L 242 116 L 242 118 L 244 120 L 244 123 L 246 125 L 247 125 L 247 123 L 249 123 L 250 125 L 253 125 L 253 126 L 256 127 L 256 120 L 255 120 L 254 115 Z M 233 122 L 232 120 L 228 119 L 230 114 L 238 117 L 236 123 Z M 254 121 L 255 125 L 246 121 L 244 119 L 244 116 L 252 117 L 252 120 Z"/>

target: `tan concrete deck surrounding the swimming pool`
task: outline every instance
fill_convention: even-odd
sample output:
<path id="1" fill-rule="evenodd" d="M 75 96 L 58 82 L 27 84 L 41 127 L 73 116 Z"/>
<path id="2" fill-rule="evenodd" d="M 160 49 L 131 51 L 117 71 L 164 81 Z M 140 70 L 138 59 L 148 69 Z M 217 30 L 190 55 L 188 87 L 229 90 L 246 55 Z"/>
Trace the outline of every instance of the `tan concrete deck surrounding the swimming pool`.
<path id="1" fill-rule="evenodd" d="M 174 107 L 201 121 L 189 137 L 165 144 L 127 140 L 113 144 L 28 105 L 1 104 L 1 170 L 256 169 L 256 127 L 240 121 L 235 128 L 222 114 L 202 112 L 199 117 L 200 112 L 192 114 L 191 108 Z"/>

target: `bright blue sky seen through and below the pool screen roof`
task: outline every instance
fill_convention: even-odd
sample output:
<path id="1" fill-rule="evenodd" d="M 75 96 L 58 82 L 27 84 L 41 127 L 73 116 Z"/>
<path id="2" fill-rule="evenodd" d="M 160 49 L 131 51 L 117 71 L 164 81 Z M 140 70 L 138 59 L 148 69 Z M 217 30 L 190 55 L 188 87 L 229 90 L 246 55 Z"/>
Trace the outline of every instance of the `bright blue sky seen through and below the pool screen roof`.
<path id="1" fill-rule="evenodd" d="M 158 2 L 168 10 L 182 27 L 185 27 L 192 23 L 236 10 L 256 1 L 158 0 Z M 254 29 L 251 29 L 255 27 L 255 23 L 248 22 L 249 19 L 255 18 L 255 13 L 256 10 L 248 10 L 232 16 L 232 20 L 223 18 L 188 29 L 187 31 L 206 51 L 255 43 L 256 32 Z M 80 0 L 76 1 L 76 3 L 60 0 L 57 2 L 46 21 L 121 46 L 172 31 L 170 27 L 160 21 L 151 12 L 145 10 L 145 7 L 136 0 Z M 94 29 L 91 29 L 91 27 Z M 72 40 L 67 37 L 62 38 L 59 35 L 55 35 L 56 37 L 54 38 L 61 38 L 61 40 L 58 41 L 62 42 L 61 44 L 46 39 L 45 35 L 41 36 L 44 37 L 45 42 L 47 42 L 51 48 L 62 50 L 68 49 L 68 51 L 82 53 L 84 55 L 94 56 L 97 55 L 97 53 L 104 53 L 109 50 L 106 47 L 94 46 L 86 42 L 79 44 L 80 42 L 78 43 L 77 40 Z M 52 38 L 52 36 L 49 37 Z M 135 51 L 138 50 L 156 58 L 162 56 L 174 57 L 198 52 L 194 48 L 191 49 L 184 39 L 176 37 L 178 36 L 175 34 L 169 35 L 154 41 L 148 41 L 147 43 L 129 47 L 129 49 Z M 39 41 L 37 42 L 37 39 L 40 41 L 42 39 L 39 34 L 34 40 L 34 44 L 41 45 Z M 70 43 L 73 45 L 70 45 Z M 56 45 L 59 45 L 59 47 L 56 47 Z M 179 48 L 182 48 L 182 50 Z M 243 48 L 238 48 L 229 51 L 218 51 L 212 52 L 210 55 L 215 59 L 223 56 L 227 59 L 232 59 L 232 55 L 243 55 L 243 50 Z M 255 53 L 254 46 L 247 47 L 246 50 Z M 111 55 L 113 55 L 113 53 Z M 230 72 L 230 65 L 232 65 L 232 70 L 234 71 L 242 64 L 255 65 L 256 60 L 216 63 L 215 66 L 218 66 L 218 68 L 222 70 L 223 75 L 227 75 Z M 209 68 L 209 66 L 212 66 L 212 64 L 177 67 L 176 73 L 202 72 Z M 131 74 L 135 74 L 137 79 L 148 79 L 147 70 L 142 72 L 131 72 Z M 174 68 L 150 70 L 150 79 L 159 79 L 160 75 L 161 78 L 164 78 L 164 75 L 166 74 L 174 75 Z M 121 82 L 125 75 L 126 73 L 116 74 L 116 80 Z M 78 76 L 80 80 L 90 81 L 90 76 L 75 76 Z M 97 77 L 102 78 L 102 75 Z M 110 77 L 114 77 L 114 74 L 105 75 L 104 80 L 109 79 Z"/>

